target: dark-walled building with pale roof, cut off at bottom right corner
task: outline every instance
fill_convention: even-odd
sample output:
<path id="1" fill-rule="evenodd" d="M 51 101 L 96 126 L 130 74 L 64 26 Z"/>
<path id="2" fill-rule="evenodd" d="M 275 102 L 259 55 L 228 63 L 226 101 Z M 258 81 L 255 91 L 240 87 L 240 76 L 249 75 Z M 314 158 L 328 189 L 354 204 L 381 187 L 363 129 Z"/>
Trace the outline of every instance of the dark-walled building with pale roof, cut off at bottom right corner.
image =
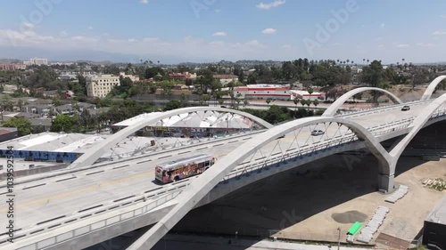
<path id="1" fill-rule="evenodd" d="M 446 249 L 446 197 L 425 219 L 423 245 L 427 249 Z"/>

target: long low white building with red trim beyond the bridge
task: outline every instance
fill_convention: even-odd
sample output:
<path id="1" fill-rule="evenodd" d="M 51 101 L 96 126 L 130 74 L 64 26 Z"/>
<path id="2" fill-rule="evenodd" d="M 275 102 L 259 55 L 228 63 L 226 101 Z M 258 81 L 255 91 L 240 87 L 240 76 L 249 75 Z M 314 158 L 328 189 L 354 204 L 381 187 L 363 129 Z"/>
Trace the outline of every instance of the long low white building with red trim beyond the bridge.
<path id="1" fill-rule="evenodd" d="M 235 87 L 234 95 L 241 99 L 289 100 L 290 89 L 283 85 L 246 85 Z"/>

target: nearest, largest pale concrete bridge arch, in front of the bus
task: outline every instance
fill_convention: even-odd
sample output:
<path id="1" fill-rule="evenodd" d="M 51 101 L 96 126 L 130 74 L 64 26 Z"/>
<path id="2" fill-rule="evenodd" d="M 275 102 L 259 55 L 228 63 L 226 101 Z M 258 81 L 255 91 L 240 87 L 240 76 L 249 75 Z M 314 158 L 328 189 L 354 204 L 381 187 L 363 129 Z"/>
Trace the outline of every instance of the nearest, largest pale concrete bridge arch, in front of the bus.
<path id="1" fill-rule="evenodd" d="M 128 249 L 151 249 L 156 242 L 158 242 L 166 233 L 171 230 L 190 210 L 196 206 L 202 198 L 206 196 L 227 173 L 230 173 L 236 165 L 244 161 L 246 157 L 251 156 L 270 141 L 283 136 L 285 133 L 292 133 L 300 127 L 307 125 L 316 125 L 319 123 L 339 123 L 346 125 L 354 133 L 357 133 L 359 138 L 366 141 L 366 144 L 372 153 L 379 158 L 379 160 L 390 160 L 387 151 L 381 146 L 379 141 L 376 141 L 375 136 L 368 132 L 368 130 L 355 122 L 343 118 L 335 117 L 308 117 L 284 125 L 277 125 L 268 129 L 267 132 L 261 133 L 250 141 L 246 141 L 243 145 L 230 152 L 226 157 L 222 157 L 219 161 L 205 173 L 195 179 L 190 186 L 179 196 L 178 205 L 174 206 L 169 214 L 164 216 L 157 224 L 155 224 L 145 235 L 138 238 L 136 242 L 129 246 Z M 389 169 L 386 170 L 388 172 Z"/>

